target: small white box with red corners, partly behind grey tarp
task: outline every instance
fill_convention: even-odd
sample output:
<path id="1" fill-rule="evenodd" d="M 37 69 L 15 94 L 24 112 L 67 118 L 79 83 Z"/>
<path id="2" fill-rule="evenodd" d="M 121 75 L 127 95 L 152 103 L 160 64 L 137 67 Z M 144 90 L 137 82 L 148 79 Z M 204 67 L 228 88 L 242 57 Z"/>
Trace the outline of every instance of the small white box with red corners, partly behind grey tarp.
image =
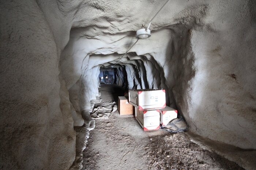
<path id="1" fill-rule="evenodd" d="M 178 115 L 178 111 L 174 108 L 170 108 L 166 106 L 163 109 L 160 109 L 160 124 L 161 126 L 165 126 L 171 120 L 176 119 Z"/>

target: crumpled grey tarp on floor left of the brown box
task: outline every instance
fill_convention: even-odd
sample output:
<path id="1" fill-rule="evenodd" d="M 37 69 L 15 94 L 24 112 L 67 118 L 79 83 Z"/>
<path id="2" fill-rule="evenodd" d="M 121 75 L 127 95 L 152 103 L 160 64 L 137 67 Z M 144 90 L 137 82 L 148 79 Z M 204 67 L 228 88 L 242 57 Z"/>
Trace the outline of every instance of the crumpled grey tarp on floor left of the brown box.
<path id="1" fill-rule="evenodd" d="M 104 102 L 93 109 L 93 112 L 91 113 L 91 118 L 108 119 L 115 111 L 117 111 L 116 102 Z"/>

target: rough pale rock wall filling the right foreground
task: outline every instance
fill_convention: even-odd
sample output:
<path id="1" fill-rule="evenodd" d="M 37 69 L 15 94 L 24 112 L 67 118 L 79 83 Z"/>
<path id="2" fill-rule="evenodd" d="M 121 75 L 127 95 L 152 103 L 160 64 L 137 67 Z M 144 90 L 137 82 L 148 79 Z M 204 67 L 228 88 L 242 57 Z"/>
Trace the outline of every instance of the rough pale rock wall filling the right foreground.
<path id="1" fill-rule="evenodd" d="M 197 134 L 256 149 L 255 1 L 211 5 L 203 20 L 211 28 L 191 33 L 196 73 L 183 112 Z"/>

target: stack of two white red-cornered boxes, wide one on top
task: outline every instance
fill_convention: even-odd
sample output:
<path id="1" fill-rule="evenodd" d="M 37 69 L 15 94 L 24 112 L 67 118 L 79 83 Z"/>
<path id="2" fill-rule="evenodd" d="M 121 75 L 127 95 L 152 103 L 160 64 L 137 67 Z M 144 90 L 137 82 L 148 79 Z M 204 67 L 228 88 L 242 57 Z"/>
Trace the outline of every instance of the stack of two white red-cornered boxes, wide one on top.
<path id="1" fill-rule="evenodd" d="M 165 90 L 129 90 L 129 103 L 135 107 L 135 118 L 144 131 L 160 127 L 160 108 L 165 108 Z"/>

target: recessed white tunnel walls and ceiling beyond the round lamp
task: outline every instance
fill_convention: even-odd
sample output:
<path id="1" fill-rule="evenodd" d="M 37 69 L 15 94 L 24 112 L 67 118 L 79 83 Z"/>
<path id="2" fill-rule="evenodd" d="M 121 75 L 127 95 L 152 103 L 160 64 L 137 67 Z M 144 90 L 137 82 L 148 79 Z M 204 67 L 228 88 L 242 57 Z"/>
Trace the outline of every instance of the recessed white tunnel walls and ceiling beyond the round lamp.
<path id="1" fill-rule="evenodd" d="M 128 32 L 128 35 L 105 35 L 94 39 L 80 37 L 80 31 L 82 30 L 71 30 L 69 44 L 72 46 L 68 44 L 61 56 L 63 76 L 69 79 L 67 86 L 70 101 L 74 106 L 72 115 L 75 126 L 83 123 L 79 113 L 90 110 L 90 101 L 98 96 L 100 67 L 116 68 L 116 83 L 126 89 L 163 88 L 166 89 L 166 101 L 169 106 L 176 107 L 177 102 L 183 102 L 178 99 L 184 95 L 182 89 L 187 88 L 188 80 L 193 76 L 193 55 L 188 54 L 190 33 L 187 27 L 171 25 L 153 31 L 150 40 L 139 40 L 131 52 L 120 61 L 120 57 L 135 42 L 134 35 Z M 87 31 L 84 32 L 86 35 Z M 159 37 L 167 38 L 159 41 Z M 109 43 L 111 41 L 113 43 Z M 84 51 L 82 46 L 86 47 L 87 51 Z M 70 65 L 70 62 L 74 64 Z M 81 71 L 78 70 L 79 67 Z M 125 78 L 120 74 L 123 72 Z M 87 81 L 89 78 L 91 80 Z M 177 101 L 174 99 L 175 92 Z"/>

